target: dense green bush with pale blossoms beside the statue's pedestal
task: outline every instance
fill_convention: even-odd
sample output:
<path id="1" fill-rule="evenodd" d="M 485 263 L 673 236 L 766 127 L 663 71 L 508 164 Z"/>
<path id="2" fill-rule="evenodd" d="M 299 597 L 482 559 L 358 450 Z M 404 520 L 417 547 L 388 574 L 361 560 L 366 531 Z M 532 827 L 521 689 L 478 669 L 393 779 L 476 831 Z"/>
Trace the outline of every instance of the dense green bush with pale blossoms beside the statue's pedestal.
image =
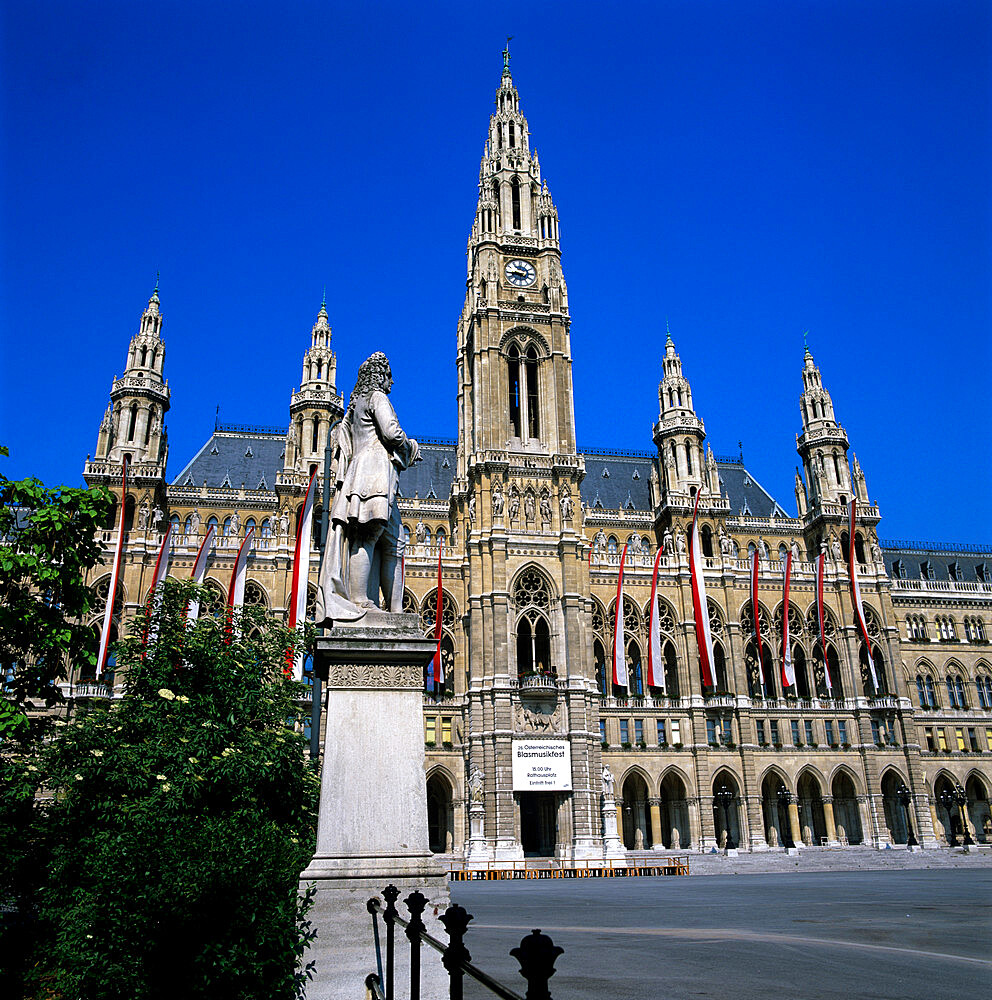
<path id="1" fill-rule="evenodd" d="M 43 754 L 48 995 L 289 998 L 305 980 L 319 780 L 283 672 L 297 639 L 255 608 L 190 626 L 195 589 L 167 582 L 118 644 L 120 703 Z"/>

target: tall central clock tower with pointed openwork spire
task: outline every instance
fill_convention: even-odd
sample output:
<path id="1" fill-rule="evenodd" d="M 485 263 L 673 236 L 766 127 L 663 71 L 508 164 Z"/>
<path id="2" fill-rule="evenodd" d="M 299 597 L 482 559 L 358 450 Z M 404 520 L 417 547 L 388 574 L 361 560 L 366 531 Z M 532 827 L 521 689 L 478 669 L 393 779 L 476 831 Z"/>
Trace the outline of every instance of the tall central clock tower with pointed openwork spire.
<path id="1" fill-rule="evenodd" d="M 458 323 L 451 514 L 465 539 L 466 767 L 485 775 L 485 843 L 473 835 L 470 860 L 522 857 L 535 836 L 559 857 L 603 857 L 585 469 L 559 236 L 504 51 Z M 514 787 L 514 742 L 535 733 L 568 741 L 567 786 Z"/>

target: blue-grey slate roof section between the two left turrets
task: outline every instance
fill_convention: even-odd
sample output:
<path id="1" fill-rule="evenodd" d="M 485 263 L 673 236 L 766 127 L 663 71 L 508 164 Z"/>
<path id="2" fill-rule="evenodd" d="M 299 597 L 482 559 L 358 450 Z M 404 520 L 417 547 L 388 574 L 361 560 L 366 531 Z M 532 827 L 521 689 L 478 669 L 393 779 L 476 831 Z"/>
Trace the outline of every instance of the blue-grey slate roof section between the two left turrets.
<path id="1" fill-rule="evenodd" d="M 215 430 L 172 485 L 274 490 L 285 448 L 285 431 Z"/>

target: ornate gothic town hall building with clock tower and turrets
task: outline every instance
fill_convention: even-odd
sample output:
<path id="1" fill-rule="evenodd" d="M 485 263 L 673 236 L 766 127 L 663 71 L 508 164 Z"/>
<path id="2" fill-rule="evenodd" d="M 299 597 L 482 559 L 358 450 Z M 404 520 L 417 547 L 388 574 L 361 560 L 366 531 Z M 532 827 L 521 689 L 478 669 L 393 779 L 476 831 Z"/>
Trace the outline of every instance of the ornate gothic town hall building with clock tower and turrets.
<path id="1" fill-rule="evenodd" d="M 693 403 L 691 370 L 683 370 L 671 337 L 644 450 L 581 451 L 560 241 L 558 212 L 504 68 L 457 324 L 458 437 L 425 439 L 408 427 L 424 461 L 403 473 L 400 487 L 408 532 L 404 604 L 431 634 L 444 543 L 447 679 L 442 692 L 425 694 L 423 706 L 432 848 L 468 853 L 469 778 L 477 782 L 481 773 L 476 794 L 485 816 L 475 858 L 601 858 L 604 764 L 614 776 L 626 850 L 884 847 L 905 844 L 910 830 L 924 847 L 992 844 L 992 548 L 878 539 L 879 509 L 809 351 L 796 373 L 795 517 L 740 459 L 713 454 Z M 317 314 L 290 394 L 288 432 L 219 424 L 171 477 L 162 332 L 156 289 L 84 472 L 87 483 L 119 492 L 121 463 L 130 457 L 115 631 L 146 598 L 168 520 L 178 536 L 177 577 L 188 575 L 208 524 L 218 525 L 207 579 L 218 601 L 239 537 L 254 525 L 246 599 L 284 616 L 297 512 L 344 412 L 327 310 L 322 305 Z M 686 530 L 697 493 L 713 686 L 702 684 L 689 585 Z M 871 648 L 849 595 L 845 504 L 852 496 Z M 108 531 L 108 553 L 112 538 Z M 644 666 L 659 546 L 663 688 L 646 685 Z M 749 594 L 756 547 L 763 685 Z M 814 593 L 821 547 L 826 660 Z M 783 690 L 780 559 L 788 550 L 796 684 Z M 318 561 L 315 554 L 311 590 Z M 106 591 L 108 579 L 104 566 L 92 582 Z M 608 667 L 618 613 L 626 688 L 612 685 Z M 68 687 L 77 700 L 114 695 L 112 677 L 75 676 Z M 332 722 L 326 739 L 333 738 Z M 517 773 L 514 758 L 515 748 L 538 741 L 559 747 L 563 763 L 535 787 Z"/>

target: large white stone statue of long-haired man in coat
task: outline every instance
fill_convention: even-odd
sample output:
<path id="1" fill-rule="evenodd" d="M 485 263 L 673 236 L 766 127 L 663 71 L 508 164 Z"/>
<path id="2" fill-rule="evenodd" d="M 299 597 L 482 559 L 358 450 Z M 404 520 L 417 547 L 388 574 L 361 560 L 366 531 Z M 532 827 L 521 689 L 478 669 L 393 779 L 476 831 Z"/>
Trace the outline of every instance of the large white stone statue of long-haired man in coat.
<path id="1" fill-rule="evenodd" d="M 393 375 L 376 351 L 359 366 L 334 448 L 331 535 L 320 567 L 316 621 L 355 620 L 365 609 L 403 610 L 405 547 L 399 473 L 420 457 L 389 402 Z M 380 594 L 382 603 L 380 604 Z"/>

